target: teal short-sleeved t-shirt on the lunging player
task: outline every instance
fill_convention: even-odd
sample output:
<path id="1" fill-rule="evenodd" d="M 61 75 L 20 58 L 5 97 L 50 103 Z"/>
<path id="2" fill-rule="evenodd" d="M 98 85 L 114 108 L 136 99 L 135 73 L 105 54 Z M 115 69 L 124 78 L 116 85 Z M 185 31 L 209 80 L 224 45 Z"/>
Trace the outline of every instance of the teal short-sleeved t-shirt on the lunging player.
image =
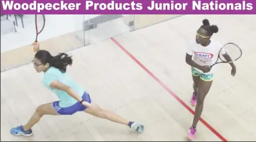
<path id="1" fill-rule="evenodd" d="M 47 72 L 44 73 L 43 84 L 57 95 L 59 98 L 59 107 L 70 107 L 71 105 L 76 104 L 77 100 L 62 90 L 51 88 L 50 85 L 54 80 L 71 87 L 80 97 L 82 97 L 85 92 L 83 87 L 76 83 L 67 73 L 62 73 L 61 70 L 55 67 L 50 67 Z"/>

